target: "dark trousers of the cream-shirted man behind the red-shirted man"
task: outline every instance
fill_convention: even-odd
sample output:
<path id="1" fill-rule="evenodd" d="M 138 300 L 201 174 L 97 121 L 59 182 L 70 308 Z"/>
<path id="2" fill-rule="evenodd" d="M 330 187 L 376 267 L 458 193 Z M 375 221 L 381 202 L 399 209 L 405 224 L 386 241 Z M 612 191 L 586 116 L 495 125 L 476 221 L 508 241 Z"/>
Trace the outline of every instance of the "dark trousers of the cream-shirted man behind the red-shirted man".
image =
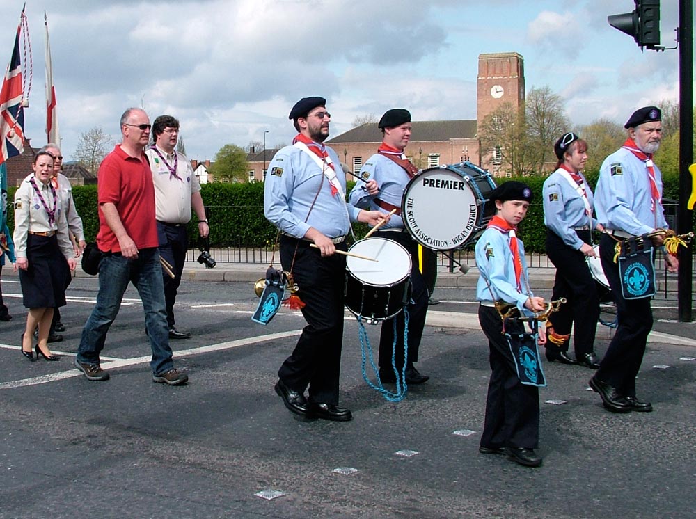
<path id="1" fill-rule="evenodd" d="M 167 324 L 171 330 L 174 328 L 174 303 L 181 283 L 181 276 L 184 273 L 186 249 L 189 244 L 186 237 L 186 224 L 157 221 L 157 240 L 159 241 L 159 257 L 173 266 L 173 278 L 164 270 L 164 267 L 162 268 Z"/>

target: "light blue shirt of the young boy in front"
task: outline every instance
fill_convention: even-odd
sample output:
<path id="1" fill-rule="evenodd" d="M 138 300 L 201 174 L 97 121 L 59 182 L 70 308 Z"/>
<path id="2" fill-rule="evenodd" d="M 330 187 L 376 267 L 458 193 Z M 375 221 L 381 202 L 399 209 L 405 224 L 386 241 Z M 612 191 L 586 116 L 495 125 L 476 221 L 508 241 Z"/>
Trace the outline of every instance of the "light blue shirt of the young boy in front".
<path id="1" fill-rule="evenodd" d="M 522 262 L 522 289 L 526 290 L 529 287 L 527 262 L 524 257 L 524 245 L 519 237 L 517 238 L 517 244 Z M 529 294 L 517 292 L 515 267 L 507 232 L 501 232 L 495 227 L 488 227 L 487 230 L 484 230 L 476 243 L 476 266 L 479 269 L 479 279 L 476 284 L 477 301 L 493 302 L 502 299 L 505 303 L 516 303 L 517 308 L 523 315 L 531 316 L 533 314 L 533 312 L 525 308 L 524 303 L 534 294 L 531 292 Z M 491 285 L 490 290 L 486 280 Z M 491 290 L 493 292 L 492 296 Z M 491 300 L 491 297 L 494 299 Z"/>

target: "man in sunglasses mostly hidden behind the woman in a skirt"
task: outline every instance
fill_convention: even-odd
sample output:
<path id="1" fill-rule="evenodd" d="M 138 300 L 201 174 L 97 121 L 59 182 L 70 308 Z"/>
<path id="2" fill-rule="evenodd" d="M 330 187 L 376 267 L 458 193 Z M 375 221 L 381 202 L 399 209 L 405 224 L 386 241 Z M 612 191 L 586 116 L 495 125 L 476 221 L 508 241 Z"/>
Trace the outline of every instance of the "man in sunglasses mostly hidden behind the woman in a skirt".
<path id="1" fill-rule="evenodd" d="M 58 197 L 61 199 L 61 207 L 67 207 L 65 209 L 65 216 L 68 218 L 68 230 L 70 231 L 70 242 L 72 243 L 72 248 L 75 252 L 75 257 L 80 257 L 81 253 L 87 246 L 85 241 L 85 234 L 82 227 L 82 218 L 77 214 L 77 208 L 75 207 L 75 202 L 72 200 L 72 185 L 68 177 L 61 173 L 63 169 L 63 154 L 61 153 L 61 148 L 58 147 L 56 143 L 48 143 L 41 148 L 42 152 L 49 152 L 53 155 L 53 176 L 51 177 L 51 182 L 58 193 Z M 70 282 L 72 281 L 72 273 L 65 280 L 65 288 L 68 288 Z M 61 322 L 61 311 L 59 308 L 53 312 L 53 321 L 51 321 L 51 329 L 48 334 L 48 342 L 61 342 L 63 340 L 63 335 L 56 332 L 64 332 L 65 326 Z M 35 337 L 36 332 L 34 333 Z"/>

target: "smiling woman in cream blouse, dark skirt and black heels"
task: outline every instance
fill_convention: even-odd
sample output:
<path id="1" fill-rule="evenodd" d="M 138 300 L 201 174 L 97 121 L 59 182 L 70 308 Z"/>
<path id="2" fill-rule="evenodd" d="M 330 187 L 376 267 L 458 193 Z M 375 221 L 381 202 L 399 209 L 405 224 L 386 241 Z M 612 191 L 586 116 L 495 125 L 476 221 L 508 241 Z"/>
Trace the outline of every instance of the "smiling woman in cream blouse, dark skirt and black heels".
<path id="1" fill-rule="evenodd" d="M 29 308 L 22 334 L 22 354 L 33 359 L 31 343 L 38 326 L 36 358 L 58 360 L 47 340 L 54 308 L 65 305 L 65 278 L 75 269 L 74 250 L 68 237 L 58 193 L 51 183 L 53 156 L 38 152 L 31 168 L 15 193 L 15 253 L 22 300 Z M 67 261 L 66 261 L 67 260 Z"/>

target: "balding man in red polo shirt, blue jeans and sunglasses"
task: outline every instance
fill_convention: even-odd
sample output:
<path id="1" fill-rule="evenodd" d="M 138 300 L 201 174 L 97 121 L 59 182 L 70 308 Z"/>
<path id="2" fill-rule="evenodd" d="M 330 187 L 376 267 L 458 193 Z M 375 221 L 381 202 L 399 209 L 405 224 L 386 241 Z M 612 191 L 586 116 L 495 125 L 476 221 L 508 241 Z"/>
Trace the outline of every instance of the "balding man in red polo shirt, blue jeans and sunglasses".
<path id="1" fill-rule="evenodd" d="M 169 346 L 155 222 L 155 186 L 145 155 L 150 119 L 142 109 L 130 108 L 121 116 L 120 124 L 122 141 L 99 167 L 97 247 L 103 255 L 99 292 L 82 330 L 75 365 L 90 381 L 109 378 L 109 373 L 100 367 L 99 356 L 123 293 L 132 282 L 143 301 L 145 330 L 152 348 L 152 380 L 180 385 L 189 377 L 174 367 Z"/>

